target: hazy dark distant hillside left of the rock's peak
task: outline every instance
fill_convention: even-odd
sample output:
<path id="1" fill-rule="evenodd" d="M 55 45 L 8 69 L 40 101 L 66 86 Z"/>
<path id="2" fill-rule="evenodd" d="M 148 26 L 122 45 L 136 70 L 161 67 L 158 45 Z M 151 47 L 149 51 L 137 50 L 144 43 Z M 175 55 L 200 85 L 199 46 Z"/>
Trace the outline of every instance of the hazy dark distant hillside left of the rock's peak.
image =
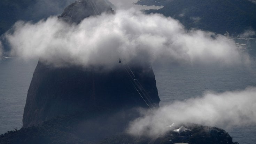
<path id="1" fill-rule="evenodd" d="M 51 15 L 59 15 L 75 0 L 1 0 L 0 35 L 10 29 L 17 20 L 38 21 Z"/>

